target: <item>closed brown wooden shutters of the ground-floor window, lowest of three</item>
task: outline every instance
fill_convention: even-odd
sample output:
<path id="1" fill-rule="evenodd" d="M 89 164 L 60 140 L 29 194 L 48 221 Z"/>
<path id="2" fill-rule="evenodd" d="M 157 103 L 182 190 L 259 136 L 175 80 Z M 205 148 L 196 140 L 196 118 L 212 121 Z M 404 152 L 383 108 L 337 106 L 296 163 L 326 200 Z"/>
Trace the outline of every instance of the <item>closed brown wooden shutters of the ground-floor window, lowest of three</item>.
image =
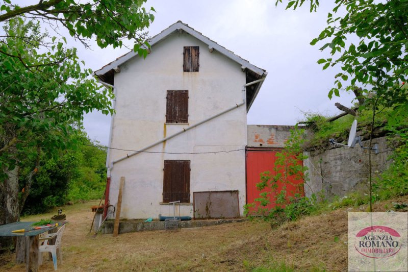
<path id="1" fill-rule="evenodd" d="M 190 161 L 164 161 L 163 202 L 190 203 Z"/>

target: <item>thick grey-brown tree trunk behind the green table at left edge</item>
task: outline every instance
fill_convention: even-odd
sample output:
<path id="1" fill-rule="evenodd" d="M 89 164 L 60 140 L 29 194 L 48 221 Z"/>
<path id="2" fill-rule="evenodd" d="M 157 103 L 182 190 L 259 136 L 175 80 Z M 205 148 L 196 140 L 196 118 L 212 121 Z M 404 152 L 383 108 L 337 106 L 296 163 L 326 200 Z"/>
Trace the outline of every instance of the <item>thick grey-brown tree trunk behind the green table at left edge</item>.
<path id="1" fill-rule="evenodd" d="M 7 172 L 8 179 L 0 181 L 0 225 L 18 220 L 18 167 Z M 0 237 L 0 248 L 14 248 L 12 237 Z"/>

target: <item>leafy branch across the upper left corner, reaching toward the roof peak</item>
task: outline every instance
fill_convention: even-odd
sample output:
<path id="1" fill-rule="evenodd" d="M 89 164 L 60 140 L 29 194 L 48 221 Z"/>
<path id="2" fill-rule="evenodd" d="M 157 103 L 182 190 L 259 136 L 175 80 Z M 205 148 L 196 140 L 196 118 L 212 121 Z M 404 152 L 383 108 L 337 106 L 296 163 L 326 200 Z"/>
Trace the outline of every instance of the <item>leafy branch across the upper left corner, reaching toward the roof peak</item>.
<path id="1" fill-rule="evenodd" d="M 59 33 L 65 28 L 75 39 L 88 46 L 88 40 L 95 38 L 99 47 L 108 45 L 120 47 L 123 39 L 135 40 L 135 51 L 141 45 L 147 48 L 147 28 L 155 16 L 154 8 L 146 10 L 142 5 L 146 0 L 39 0 L 37 4 L 19 6 L 11 0 L 4 0 L 0 6 L 0 22 L 16 16 L 42 20 L 49 28 Z M 7 35 L 6 35 L 7 36 Z M 21 37 L 21 36 L 16 36 Z M 22 37 L 24 38 L 24 37 Z M 147 54 L 143 48 L 140 55 Z"/>

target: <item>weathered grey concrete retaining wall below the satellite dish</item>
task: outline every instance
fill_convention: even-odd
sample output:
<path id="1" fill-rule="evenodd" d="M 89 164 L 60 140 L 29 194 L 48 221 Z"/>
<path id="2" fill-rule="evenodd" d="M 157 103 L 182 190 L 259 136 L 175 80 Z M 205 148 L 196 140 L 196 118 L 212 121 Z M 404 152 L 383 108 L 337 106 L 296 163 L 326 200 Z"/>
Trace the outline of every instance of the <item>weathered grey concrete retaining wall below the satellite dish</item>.
<path id="1" fill-rule="evenodd" d="M 369 141 L 363 143 L 368 146 Z M 379 154 L 371 153 L 374 178 L 389 167 L 393 147 L 387 144 L 386 137 L 375 138 L 373 143 L 379 147 Z M 368 192 L 368 150 L 357 144 L 353 149 L 341 146 L 305 154 L 309 158 L 303 161 L 303 165 L 309 168 L 310 178 L 304 185 L 306 196 L 322 191 L 326 199 L 331 199 L 334 195 L 344 196 L 351 191 Z"/>

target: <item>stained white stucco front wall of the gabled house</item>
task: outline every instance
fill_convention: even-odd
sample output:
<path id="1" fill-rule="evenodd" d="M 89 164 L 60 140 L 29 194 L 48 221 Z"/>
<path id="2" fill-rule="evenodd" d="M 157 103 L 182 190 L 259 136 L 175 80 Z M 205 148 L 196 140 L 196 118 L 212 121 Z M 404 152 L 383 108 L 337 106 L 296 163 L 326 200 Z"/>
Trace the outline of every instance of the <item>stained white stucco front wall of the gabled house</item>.
<path id="1" fill-rule="evenodd" d="M 199 72 L 183 72 L 183 47 L 200 46 Z M 245 73 L 241 65 L 186 33 L 174 33 L 155 44 L 146 59 L 135 57 L 115 75 L 116 115 L 111 147 L 140 150 L 184 127 L 242 102 Z M 165 124 L 167 90 L 189 90 L 189 125 Z M 190 203 L 183 215 L 193 216 L 194 191 L 238 190 L 240 213 L 245 204 L 245 151 L 216 154 L 162 154 L 244 149 L 246 107 L 241 106 L 165 143 L 115 163 L 111 169 L 109 200 L 116 206 L 119 180 L 125 177 L 121 218 L 172 215 L 161 205 L 164 160 L 191 160 Z M 111 150 L 109 163 L 126 156 Z"/>

